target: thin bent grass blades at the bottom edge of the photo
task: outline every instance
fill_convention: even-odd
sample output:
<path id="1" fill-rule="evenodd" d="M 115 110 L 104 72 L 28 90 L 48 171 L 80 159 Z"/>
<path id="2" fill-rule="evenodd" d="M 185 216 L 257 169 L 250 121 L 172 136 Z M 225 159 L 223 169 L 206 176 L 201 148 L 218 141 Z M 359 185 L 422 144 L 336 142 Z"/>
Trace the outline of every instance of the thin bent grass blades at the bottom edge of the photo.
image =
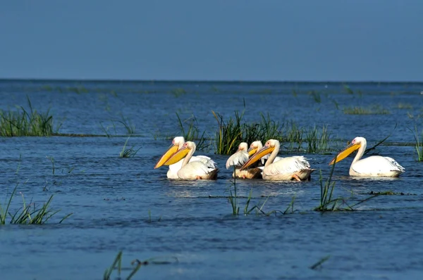
<path id="1" fill-rule="evenodd" d="M 110 267 L 106 268 L 103 274 L 104 280 L 110 280 L 110 276 L 112 272 L 116 269 L 118 271 L 118 279 L 121 279 L 121 272 L 122 270 L 130 270 L 130 274 L 126 277 L 127 280 L 130 280 L 135 274 L 137 274 L 138 270 L 142 266 L 146 265 L 170 265 L 173 263 L 178 262 L 177 257 L 151 257 L 147 260 L 138 260 L 135 259 L 130 262 L 130 265 L 133 267 L 122 267 L 122 255 L 123 252 L 119 251 L 118 255 L 116 255 L 114 262 L 111 264 Z"/>

